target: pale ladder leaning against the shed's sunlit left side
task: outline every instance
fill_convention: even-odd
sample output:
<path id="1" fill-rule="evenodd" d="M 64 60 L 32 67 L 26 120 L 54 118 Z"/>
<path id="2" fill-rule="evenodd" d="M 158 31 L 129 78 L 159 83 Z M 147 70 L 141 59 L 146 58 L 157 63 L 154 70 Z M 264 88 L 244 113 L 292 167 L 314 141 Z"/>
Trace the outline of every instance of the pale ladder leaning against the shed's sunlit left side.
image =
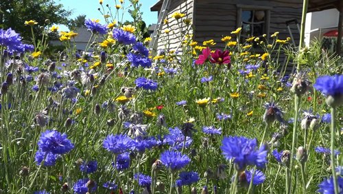
<path id="1" fill-rule="evenodd" d="M 163 0 L 161 12 L 158 15 L 157 24 L 155 26 L 154 33 L 152 34 L 152 41 L 150 41 L 150 44 L 149 44 L 149 50 L 150 50 L 151 56 L 154 56 L 154 54 L 157 51 L 156 48 L 157 48 L 158 36 L 159 36 L 158 33 L 161 32 L 161 30 L 162 30 L 163 20 L 165 19 L 165 17 L 168 14 L 168 8 L 169 8 L 170 2 L 171 2 L 171 0 Z"/>

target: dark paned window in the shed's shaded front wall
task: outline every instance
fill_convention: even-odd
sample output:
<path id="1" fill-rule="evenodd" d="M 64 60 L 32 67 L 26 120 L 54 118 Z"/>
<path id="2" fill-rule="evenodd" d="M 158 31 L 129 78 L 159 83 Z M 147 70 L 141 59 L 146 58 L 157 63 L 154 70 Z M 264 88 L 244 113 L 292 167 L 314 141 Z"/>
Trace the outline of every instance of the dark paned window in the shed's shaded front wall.
<path id="1" fill-rule="evenodd" d="M 241 37 L 269 34 L 270 10 L 265 6 L 237 5 L 237 28 L 241 27 Z"/>

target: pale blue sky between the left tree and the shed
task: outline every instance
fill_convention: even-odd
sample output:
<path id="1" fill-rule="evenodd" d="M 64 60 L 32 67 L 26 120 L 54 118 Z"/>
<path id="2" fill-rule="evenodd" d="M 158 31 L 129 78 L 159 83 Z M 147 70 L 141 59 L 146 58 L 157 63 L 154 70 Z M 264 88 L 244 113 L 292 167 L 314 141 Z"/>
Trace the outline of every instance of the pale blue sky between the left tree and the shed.
<path id="1" fill-rule="evenodd" d="M 106 10 L 106 4 L 108 4 L 112 11 L 115 11 L 115 1 L 118 0 L 104 0 L 103 6 Z M 143 21 L 145 21 L 146 25 L 150 25 L 152 23 L 157 22 L 157 12 L 150 12 L 150 8 L 157 2 L 158 0 L 139 0 L 139 3 L 142 4 L 141 12 L 143 12 L 142 17 Z M 101 8 L 99 4 L 99 0 L 57 0 L 56 3 L 61 3 L 66 10 L 71 10 L 73 13 L 71 14 L 70 19 L 75 19 L 80 14 L 86 14 L 86 19 L 99 19 L 100 23 L 105 24 L 105 19 L 102 14 L 97 10 L 97 8 Z M 130 2 L 128 0 L 124 0 L 124 8 L 128 8 Z M 126 11 L 123 17 L 123 21 L 132 21 L 130 14 Z M 59 25 L 58 26 L 60 31 L 69 31 L 67 26 Z"/>

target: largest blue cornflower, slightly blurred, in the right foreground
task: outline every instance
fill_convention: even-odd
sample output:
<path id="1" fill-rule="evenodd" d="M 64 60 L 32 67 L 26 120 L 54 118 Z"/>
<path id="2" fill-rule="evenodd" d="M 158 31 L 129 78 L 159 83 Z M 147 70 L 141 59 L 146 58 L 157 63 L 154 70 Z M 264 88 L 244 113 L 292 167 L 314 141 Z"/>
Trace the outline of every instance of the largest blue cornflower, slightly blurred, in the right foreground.
<path id="1" fill-rule="evenodd" d="M 257 140 L 245 137 L 225 137 L 222 141 L 223 155 L 227 160 L 233 159 L 239 169 L 245 169 L 248 165 L 256 165 L 263 168 L 268 162 L 268 150 L 265 145 L 257 147 Z"/>

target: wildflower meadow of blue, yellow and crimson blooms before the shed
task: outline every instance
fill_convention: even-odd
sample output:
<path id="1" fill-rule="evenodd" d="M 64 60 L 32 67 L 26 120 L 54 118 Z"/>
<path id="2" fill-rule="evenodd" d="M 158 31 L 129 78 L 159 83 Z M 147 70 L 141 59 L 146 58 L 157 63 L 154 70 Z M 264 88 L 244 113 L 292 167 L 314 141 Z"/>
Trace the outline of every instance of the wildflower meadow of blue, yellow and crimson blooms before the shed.
<path id="1" fill-rule="evenodd" d="M 87 19 L 86 52 L 0 29 L 0 193 L 343 193 L 340 56 L 241 28 L 218 49 L 182 13 L 180 49 L 152 54 L 139 1 L 100 6 L 134 21 Z"/>

